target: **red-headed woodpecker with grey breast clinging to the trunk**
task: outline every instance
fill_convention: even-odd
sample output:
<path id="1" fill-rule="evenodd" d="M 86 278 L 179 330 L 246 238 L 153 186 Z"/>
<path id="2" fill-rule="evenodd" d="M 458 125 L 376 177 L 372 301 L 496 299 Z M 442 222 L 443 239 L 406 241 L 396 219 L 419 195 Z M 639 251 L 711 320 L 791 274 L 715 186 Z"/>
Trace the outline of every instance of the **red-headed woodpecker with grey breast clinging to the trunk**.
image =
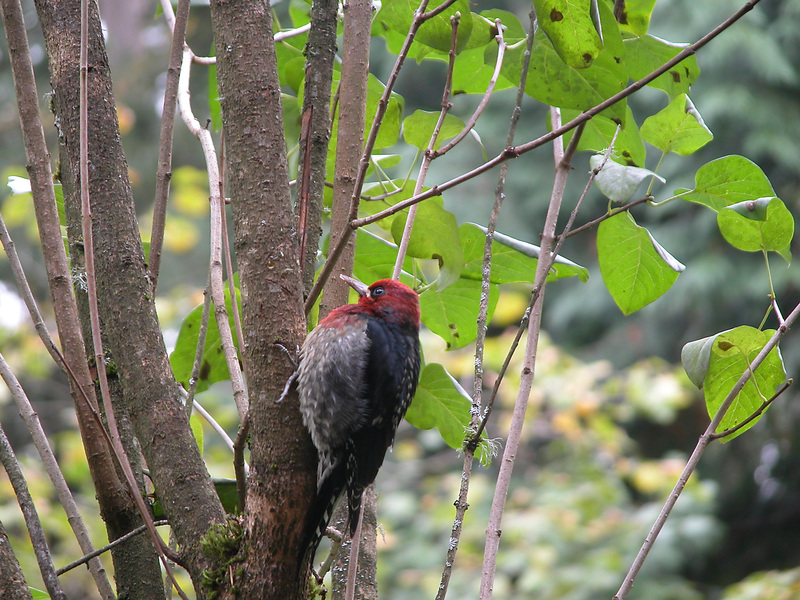
<path id="1" fill-rule="evenodd" d="M 308 335 L 297 388 L 303 423 L 317 448 L 317 495 L 304 544 L 316 552 L 346 492 L 350 535 L 364 489 L 375 480 L 419 378 L 419 296 L 381 279 L 369 287 L 341 276 L 357 304 L 332 310 Z"/>

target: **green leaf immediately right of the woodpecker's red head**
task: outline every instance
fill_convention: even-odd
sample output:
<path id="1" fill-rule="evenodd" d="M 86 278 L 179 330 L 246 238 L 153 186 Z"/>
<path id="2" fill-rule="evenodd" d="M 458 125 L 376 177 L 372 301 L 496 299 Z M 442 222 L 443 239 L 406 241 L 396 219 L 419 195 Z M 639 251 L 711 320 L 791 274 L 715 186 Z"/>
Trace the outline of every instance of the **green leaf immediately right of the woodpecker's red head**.
<path id="1" fill-rule="evenodd" d="M 422 322 L 447 343 L 447 349 L 463 348 L 478 334 L 478 306 L 481 286 L 471 279 L 459 279 L 446 289 L 429 288 L 419 296 Z M 489 318 L 494 312 L 499 293 L 489 288 Z"/>

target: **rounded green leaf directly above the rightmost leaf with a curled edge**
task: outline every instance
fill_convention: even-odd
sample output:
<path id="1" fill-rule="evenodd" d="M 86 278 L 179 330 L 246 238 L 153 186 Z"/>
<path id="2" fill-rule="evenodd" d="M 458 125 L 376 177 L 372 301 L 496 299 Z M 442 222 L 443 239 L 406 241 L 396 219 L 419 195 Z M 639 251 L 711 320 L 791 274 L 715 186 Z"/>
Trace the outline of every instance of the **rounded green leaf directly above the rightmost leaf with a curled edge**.
<path id="1" fill-rule="evenodd" d="M 719 212 L 731 204 L 773 197 L 775 190 L 757 164 L 734 154 L 704 164 L 697 170 L 694 189 L 675 194 Z"/>

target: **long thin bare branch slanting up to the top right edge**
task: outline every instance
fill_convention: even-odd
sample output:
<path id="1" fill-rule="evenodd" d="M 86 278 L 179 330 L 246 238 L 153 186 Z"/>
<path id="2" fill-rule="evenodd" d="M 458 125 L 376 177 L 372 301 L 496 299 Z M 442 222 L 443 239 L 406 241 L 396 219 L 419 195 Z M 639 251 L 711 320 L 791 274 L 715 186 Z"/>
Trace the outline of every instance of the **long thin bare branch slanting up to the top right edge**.
<path id="1" fill-rule="evenodd" d="M 684 48 L 681 52 L 676 54 L 674 58 L 672 58 L 671 60 L 669 60 L 666 63 L 664 63 L 663 65 L 661 65 L 658 69 L 656 69 L 655 71 L 653 71 L 649 75 L 646 75 L 642 79 L 632 83 L 631 85 L 626 87 L 624 90 L 614 94 L 613 96 L 611 96 L 607 100 L 604 100 L 603 102 L 601 102 L 601 103 L 593 106 L 592 108 L 584 111 L 583 113 L 581 113 L 580 115 L 578 115 L 577 117 L 575 117 L 574 119 L 569 121 L 568 123 L 562 125 L 558 129 L 552 129 L 550 132 L 548 132 L 548 133 L 536 138 L 535 140 L 531 140 L 530 142 L 527 142 L 525 144 L 521 144 L 519 146 L 507 147 L 502 152 L 500 152 L 500 154 L 498 154 L 494 158 L 488 160 L 487 162 L 483 163 L 482 165 L 479 165 L 479 166 L 475 167 L 474 169 L 472 169 L 472 170 L 470 170 L 470 171 L 468 171 L 466 173 L 463 173 L 462 175 L 459 175 L 458 177 L 454 177 L 453 179 L 450 179 L 449 181 L 445 181 L 444 183 L 440 183 L 438 185 L 435 185 L 431 189 L 429 189 L 429 190 L 427 190 L 425 192 L 422 192 L 421 194 L 412 196 L 411 198 L 408 198 L 407 200 L 403 200 L 402 202 L 398 202 L 397 204 L 395 204 L 391 208 L 387 208 L 386 210 L 383 210 L 383 211 L 381 211 L 379 213 L 376 213 L 374 215 L 370 215 L 368 217 L 364 217 L 364 218 L 361 218 L 361 219 L 353 219 L 350 222 L 350 228 L 353 231 L 355 231 L 359 227 L 363 227 L 364 225 L 368 225 L 370 223 L 374 223 L 376 221 L 380 221 L 381 219 L 385 219 L 386 217 L 389 217 L 389 216 L 391 216 L 391 215 L 393 215 L 395 213 L 398 213 L 401 210 L 405 210 L 409 206 L 417 204 L 418 202 L 422 202 L 423 200 L 427 200 L 428 198 L 432 198 L 434 196 L 441 196 L 442 192 L 447 191 L 450 188 L 456 187 L 456 186 L 464 183 L 465 181 L 469 181 L 470 179 L 473 179 L 473 178 L 477 177 L 478 175 L 481 175 L 482 173 L 485 173 L 486 171 L 489 171 L 490 169 L 493 169 L 494 167 L 496 167 L 498 165 L 501 165 L 502 163 L 504 163 L 504 162 L 506 162 L 508 160 L 511 160 L 511 159 L 514 159 L 514 158 L 518 158 L 522 154 L 525 154 L 527 152 L 530 152 L 531 150 L 535 150 L 536 148 L 539 148 L 539 147 L 541 147 L 541 146 L 543 146 L 543 145 L 545 145 L 545 144 L 547 144 L 549 142 L 552 142 L 556 138 L 561 137 L 562 135 L 564 135 L 566 132 L 568 132 L 568 131 L 570 131 L 572 129 L 575 129 L 581 123 L 585 123 L 586 121 L 589 121 L 592 117 L 594 117 L 595 115 L 603 112 L 605 109 L 613 106 L 614 104 L 616 104 L 620 100 L 624 100 L 625 98 L 627 98 L 631 94 L 639 91 L 645 85 L 647 85 L 648 83 L 650 83 L 651 81 L 653 81 L 654 79 L 659 77 L 660 75 L 663 75 L 664 73 L 669 71 L 672 67 L 674 67 L 675 65 L 677 65 L 681 61 L 683 61 L 683 60 L 687 59 L 688 57 L 692 56 L 693 54 L 695 54 L 700 48 L 705 46 L 708 42 L 713 40 L 720 33 L 722 33 L 723 31 L 728 29 L 731 25 L 733 25 L 736 21 L 741 19 L 745 14 L 750 12 L 753 9 L 753 7 L 756 4 L 758 4 L 760 1 L 761 0 L 749 0 L 749 2 L 747 2 L 741 9 L 739 9 L 736 13 L 734 13 L 732 16 L 730 16 L 728 19 L 726 19 L 723 23 L 721 23 L 720 25 L 715 27 L 712 31 L 707 33 L 702 38 L 700 38 L 694 44 L 691 44 L 691 45 L 687 46 L 686 48 Z M 333 252 L 335 252 L 336 250 L 337 250 L 337 248 L 334 248 Z M 333 255 L 333 252 L 331 253 L 331 255 Z"/>

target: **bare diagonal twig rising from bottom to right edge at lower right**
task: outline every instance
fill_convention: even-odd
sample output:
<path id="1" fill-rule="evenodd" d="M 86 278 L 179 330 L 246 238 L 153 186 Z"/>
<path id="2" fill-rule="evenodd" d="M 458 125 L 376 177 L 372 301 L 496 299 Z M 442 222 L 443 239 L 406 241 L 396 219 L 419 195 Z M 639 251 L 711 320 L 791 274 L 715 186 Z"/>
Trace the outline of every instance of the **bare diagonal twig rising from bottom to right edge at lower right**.
<path id="1" fill-rule="evenodd" d="M 689 457 L 689 460 L 686 462 L 686 466 L 681 473 L 681 476 L 678 478 L 675 487 L 672 488 L 672 491 L 667 498 L 667 501 L 664 503 L 664 506 L 661 509 L 661 512 L 658 515 L 655 523 L 650 528 L 650 532 L 647 534 L 647 537 L 642 544 L 642 547 L 639 549 L 636 558 L 634 558 L 633 563 L 631 564 L 630 569 L 628 570 L 625 579 L 622 581 L 622 585 L 620 586 L 619 590 L 616 594 L 614 594 L 613 600 L 623 600 L 628 595 L 628 592 L 633 587 L 633 582 L 636 579 L 636 576 L 639 574 L 639 571 L 644 564 L 644 561 L 647 559 L 647 555 L 649 554 L 650 550 L 653 547 L 656 539 L 658 538 L 658 534 L 661 532 L 661 529 L 664 527 L 664 523 L 667 521 L 672 509 L 675 506 L 675 503 L 678 501 L 678 498 L 683 492 L 683 488 L 686 486 L 686 483 L 689 481 L 689 477 L 692 476 L 694 470 L 697 468 L 697 464 L 700 462 L 700 457 L 703 455 L 703 452 L 706 449 L 706 446 L 714 439 L 714 434 L 719 427 L 722 418 L 725 416 L 725 413 L 728 412 L 733 401 L 739 395 L 739 392 L 742 391 L 744 385 L 750 380 L 753 372 L 761 365 L 762 362 L 766 359 L 767 355 L 778 345 L 780 339 L 786 334 L 789 328 L 794 324 L 797 320 L 798 316 L 800 316 L 800 304 L 794 307 L 792 312 L 786 317 L 784 323 L 778 327 L 766 345 L 761 349 L 761 352 L 753 359 L 752 363 L 745 369 L 742 376 L 733 386 L 731 391 L 725 397 L 725 400 L 722 401 L 719 409 L 717 410 L 714 418 L 711 419 L 711 423 L 709 423 L 708 427 L 706 428 L 703 435 L 700 436 L 700 439 L 697 441 L 697 445 L 695 445 L 694 450 L 692 451 L 692 455 Z"/>

